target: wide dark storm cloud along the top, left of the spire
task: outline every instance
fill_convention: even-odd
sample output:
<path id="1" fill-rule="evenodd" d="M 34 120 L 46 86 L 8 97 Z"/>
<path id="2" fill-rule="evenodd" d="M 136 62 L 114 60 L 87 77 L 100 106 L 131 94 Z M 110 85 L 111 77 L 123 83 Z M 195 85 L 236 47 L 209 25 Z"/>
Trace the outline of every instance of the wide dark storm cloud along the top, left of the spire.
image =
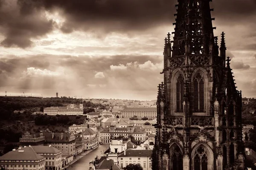
<path id="1" fill-rule="evenodd" d="M 59 8 L 67 19 L 61 30 L 141 30 L 171 23 L 174 0 L 44 0 L 47 10 Z"/>

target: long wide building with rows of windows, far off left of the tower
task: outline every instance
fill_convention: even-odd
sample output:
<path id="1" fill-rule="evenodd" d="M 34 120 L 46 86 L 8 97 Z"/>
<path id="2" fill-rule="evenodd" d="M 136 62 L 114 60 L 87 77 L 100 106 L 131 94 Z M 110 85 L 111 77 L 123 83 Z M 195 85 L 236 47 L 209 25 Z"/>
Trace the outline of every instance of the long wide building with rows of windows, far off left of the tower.
<path id="1" fill-rule="evenodd" d="M 157 108 L 124 108 L 121 113 L 122 118 L 130 118 L 134 116 L 137 116 L 138 118 L 156 118 Z"/>

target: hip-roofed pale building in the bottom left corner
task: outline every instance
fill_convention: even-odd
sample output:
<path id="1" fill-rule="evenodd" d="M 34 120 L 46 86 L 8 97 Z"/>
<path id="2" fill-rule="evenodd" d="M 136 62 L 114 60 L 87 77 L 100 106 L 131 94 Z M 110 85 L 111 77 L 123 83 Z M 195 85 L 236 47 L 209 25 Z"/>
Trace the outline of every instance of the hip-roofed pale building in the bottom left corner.
<path id="1" fill-rule="evenodd" d="M 45 161 L 45 157 L 31 147 L 19 147 L 0 157 L 0 167 L 6 170 L 45 170 Z"/>

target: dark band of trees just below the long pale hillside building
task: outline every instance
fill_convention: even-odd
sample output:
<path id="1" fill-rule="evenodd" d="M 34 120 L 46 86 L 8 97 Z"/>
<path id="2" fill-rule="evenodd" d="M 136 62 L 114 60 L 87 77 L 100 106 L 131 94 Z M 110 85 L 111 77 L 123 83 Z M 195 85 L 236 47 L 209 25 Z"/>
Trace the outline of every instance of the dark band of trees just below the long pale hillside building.
<path id="1" fill-rule="evenodd" d="M 73 118 L 73 119 L 72 119 Z M 45 114 L 38 114 L 35 116 L 35 125 L 80 125 L 84 123 L 84 116 L 67 116 L 67 115 L 56 115 L 48 116 Z"/>

